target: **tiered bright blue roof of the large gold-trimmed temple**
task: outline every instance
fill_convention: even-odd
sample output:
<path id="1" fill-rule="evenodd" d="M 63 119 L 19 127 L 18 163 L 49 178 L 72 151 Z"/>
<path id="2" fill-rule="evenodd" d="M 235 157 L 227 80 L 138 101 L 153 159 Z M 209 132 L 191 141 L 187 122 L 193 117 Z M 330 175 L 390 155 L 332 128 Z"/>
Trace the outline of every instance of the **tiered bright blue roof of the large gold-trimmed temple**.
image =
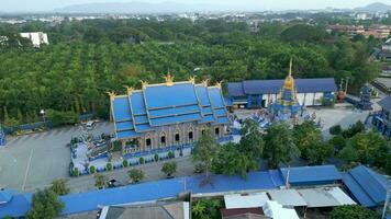
<path id="1" fill-rule="evenodd" d="M 132 138 L 154 127 L 187 122 L 228 124 L 219 87 L 192 82 L 152 84 L 112 101 L 118 138 Z"/>

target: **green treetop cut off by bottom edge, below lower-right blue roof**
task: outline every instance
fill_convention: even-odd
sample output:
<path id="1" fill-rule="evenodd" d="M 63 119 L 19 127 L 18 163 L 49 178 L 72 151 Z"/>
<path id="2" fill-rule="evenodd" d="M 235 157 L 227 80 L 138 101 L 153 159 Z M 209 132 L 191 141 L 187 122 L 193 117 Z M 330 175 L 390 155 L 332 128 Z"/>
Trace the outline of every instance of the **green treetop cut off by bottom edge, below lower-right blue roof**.
<path id="1" fill-rule="evenodd" d="M 372 210 L 359 205 L 337 206 L 329 214 L 331 219 L 379 219 Z"/>

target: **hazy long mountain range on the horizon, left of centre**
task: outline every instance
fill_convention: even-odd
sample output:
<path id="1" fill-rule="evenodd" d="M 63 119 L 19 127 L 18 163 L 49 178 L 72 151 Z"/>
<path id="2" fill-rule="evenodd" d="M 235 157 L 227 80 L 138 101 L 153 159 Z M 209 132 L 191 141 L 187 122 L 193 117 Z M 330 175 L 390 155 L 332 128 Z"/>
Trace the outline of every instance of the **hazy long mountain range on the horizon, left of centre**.
<path id="1" fill-rule="evenodd" d="M 214 12 L 214 11 L 250 11 L 252 8 L 237 5 L 217 5 L 217 4 L 186 4 L 177 2 L 104 2 L 72 4 L 56 9 L 60 13 L 172 13 L 172 12 Z"/>

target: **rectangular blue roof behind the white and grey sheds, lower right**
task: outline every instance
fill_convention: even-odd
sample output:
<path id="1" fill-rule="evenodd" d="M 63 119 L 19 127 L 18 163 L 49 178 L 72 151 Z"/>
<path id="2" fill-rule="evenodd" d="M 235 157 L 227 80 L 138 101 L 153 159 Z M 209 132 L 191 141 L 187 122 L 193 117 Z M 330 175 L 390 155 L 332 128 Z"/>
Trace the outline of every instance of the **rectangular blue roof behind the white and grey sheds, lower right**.
<path id="1" fill-rule="evenodd" d="M 334 165 L 315 165 L 300 168 L 280 169 L 282 177 L 286 181 L 289 170 L 289 183 L 292 185 L 317 184 L 334 181 L 340 181 L 342 174 Z"/>

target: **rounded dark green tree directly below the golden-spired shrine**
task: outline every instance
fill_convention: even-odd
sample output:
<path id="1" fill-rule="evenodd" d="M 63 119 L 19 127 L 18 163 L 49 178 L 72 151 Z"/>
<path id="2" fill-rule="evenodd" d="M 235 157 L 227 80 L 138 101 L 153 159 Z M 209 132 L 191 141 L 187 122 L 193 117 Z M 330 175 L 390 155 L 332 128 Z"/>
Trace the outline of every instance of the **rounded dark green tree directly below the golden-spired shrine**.
<path id="1" fill-rule="evenodd" d="M 279 163 L 289 163 L 300 155 L 294 146 L 292 130 L 284 123 L 273 123 L 266 129 L 265 158 L 269 160 L 269 168 L 277 168 Z"/>

